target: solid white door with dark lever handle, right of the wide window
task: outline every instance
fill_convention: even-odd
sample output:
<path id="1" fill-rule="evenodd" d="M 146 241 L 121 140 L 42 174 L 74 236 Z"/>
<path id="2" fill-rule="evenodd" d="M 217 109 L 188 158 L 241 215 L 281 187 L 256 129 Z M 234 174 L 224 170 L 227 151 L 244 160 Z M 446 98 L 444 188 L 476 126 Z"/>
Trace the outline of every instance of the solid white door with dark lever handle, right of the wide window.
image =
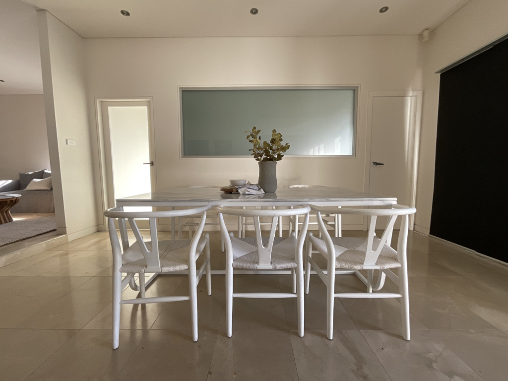
<path id="1" fill-rule="evenodd" d="M 397 197 L 402 205 L 415 202 L 417 97 L 373 96 L 371 101 L 369 193 Z M 385 226 L 386 218 L 378 218 L 376 228 Z"/>

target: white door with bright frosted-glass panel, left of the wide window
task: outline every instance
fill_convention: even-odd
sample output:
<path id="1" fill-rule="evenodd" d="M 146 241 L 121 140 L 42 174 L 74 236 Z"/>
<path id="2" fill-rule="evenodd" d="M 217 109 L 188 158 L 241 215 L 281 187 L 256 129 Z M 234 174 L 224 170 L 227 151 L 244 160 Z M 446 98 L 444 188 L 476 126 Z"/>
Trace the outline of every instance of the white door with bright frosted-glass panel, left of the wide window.
<path id="1" fill-rule="evenodd" d="M 149 193 L 154 189 L 150 114 L 148 101 L 102 101 L 110 207 L 118 198 Z M 152 208 L 144 210 L 151 211 Z"/>

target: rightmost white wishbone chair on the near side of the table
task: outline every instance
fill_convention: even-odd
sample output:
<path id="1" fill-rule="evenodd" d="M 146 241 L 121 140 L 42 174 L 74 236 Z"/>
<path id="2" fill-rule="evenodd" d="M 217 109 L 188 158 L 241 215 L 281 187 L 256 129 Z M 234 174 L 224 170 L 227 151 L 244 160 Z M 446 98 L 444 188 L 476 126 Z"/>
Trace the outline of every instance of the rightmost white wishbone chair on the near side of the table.
<path id="1" fill-rule="evenodd" d="M 353 209 L 341 208 L 341 214 L 370 216 L 367 238 L 330 237 L 326 230 L 321 213 L 336 213 L 336 207 L 318 207 L 310 205 L 316 212 L 317 222 L 323 239 L 307 234 L 307 264 L 305 273 L 305 293 L 309 292 L 310 267 L 327 286 L 327 336 L 333 338 L 333 304 L 334 298 L 401 298 L 402 336 L 409 340 L 409 293 L 407 284 L 407 231 L 408 216 L 416 212 L 415 208 L 403 205 L 391 205 L 390 209 Z M 398 216 L 402 217 L 397 242 L 397 251 L 391 247 L 393 227 Z M 387 227 L 381 238 L 375 236 L 377 216 L 387 216 Z M 312 247 L 317 249 L 328 261 L 327 274 L 312 259 Z M 396 275 L 391 268 L 398 268 Z M 367 292 L 335 294 L 335 269 L 353 270 L 365 283 Z M 359 270 L 367 270 L 365 278 Z M 379 270 L 376 284 L 372 284 L 374 270 Z M 399 294 L 373 293 L 383 288 L 385 276 L 388 276 L 399 287 Z"/>

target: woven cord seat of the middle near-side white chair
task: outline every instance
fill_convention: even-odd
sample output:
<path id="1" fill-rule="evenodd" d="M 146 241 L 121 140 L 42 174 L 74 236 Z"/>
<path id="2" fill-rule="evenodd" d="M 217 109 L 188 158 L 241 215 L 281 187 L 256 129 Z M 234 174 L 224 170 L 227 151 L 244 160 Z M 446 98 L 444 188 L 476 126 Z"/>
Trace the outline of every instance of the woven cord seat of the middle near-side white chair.
<path id="1" fill-rule="evenodd" d="M 262 237 L 263 246 L 268 244 L 269 237 Z M 231 237 L 233 245 L 233 268 L 257 270 L 259 263 L 258 247 L 256 237 L 234 238 Z M 279 238 L 274 237 L 271 256 L 272 269 L 296 268 L 295 252 L 297 240 L 295 237 Z"/>

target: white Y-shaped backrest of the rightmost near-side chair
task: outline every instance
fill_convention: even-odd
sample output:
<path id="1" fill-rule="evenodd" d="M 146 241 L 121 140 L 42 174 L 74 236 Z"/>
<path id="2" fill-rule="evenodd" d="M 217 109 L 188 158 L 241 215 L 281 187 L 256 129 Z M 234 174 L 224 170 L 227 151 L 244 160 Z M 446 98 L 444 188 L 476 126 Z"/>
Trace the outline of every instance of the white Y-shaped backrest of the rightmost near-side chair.
<path id="1" fill-rule="evenodd" d="M 376 264 L 377 259 L 383 249 L 384 245 L 390 246 L 392 243 L 392 235 L 393 235 L 393 227 L 395 225 L 395 220 L 400 215 L 402 216 L 402 221 L 400 224 L 399 230 L 399 238 L 397 242 L 397 257 L 399 262 L 401 260 L 405 261 L 406 255 L 406 245 L 407 245 L 407 231 L 409 227 L 409 215 L 414 214 L 416 212 L 415 208 L 404 206 L 404 205 L 390 205 L 389 208 L 375 208 L 375 209 L 353 209 L 353 208 L 337 208 L 337 207 L 321 207 L 315 205 L 309 205 L 310 208 L 316 212 L 317 225 L 319 226 L 320 232 L 326 242 L 328 253 L 332 253 L 335 256 L 335 247 L 332 239 L 330 238 L 330 234 L 328 233 L 326 226 L 323 222 L 323 218 L 321 214 L 351 214 L 351 215 L 364 215 L 370 216 L 369 230 L 367 233 L 367 245 L 365 249 L 365 259 L 364 259 L 364 268 L 368 269 L 369 266 L 373 266 Z M 374 247 L 374 237 L 375 237 L 375 228 L 376 228 L 376 220 L 377 216 L 387 216 L 387 226 L 383 235 L 379 239 L 376 247 Z M 402 258 L 403 257 L 403 258 Z"/>

